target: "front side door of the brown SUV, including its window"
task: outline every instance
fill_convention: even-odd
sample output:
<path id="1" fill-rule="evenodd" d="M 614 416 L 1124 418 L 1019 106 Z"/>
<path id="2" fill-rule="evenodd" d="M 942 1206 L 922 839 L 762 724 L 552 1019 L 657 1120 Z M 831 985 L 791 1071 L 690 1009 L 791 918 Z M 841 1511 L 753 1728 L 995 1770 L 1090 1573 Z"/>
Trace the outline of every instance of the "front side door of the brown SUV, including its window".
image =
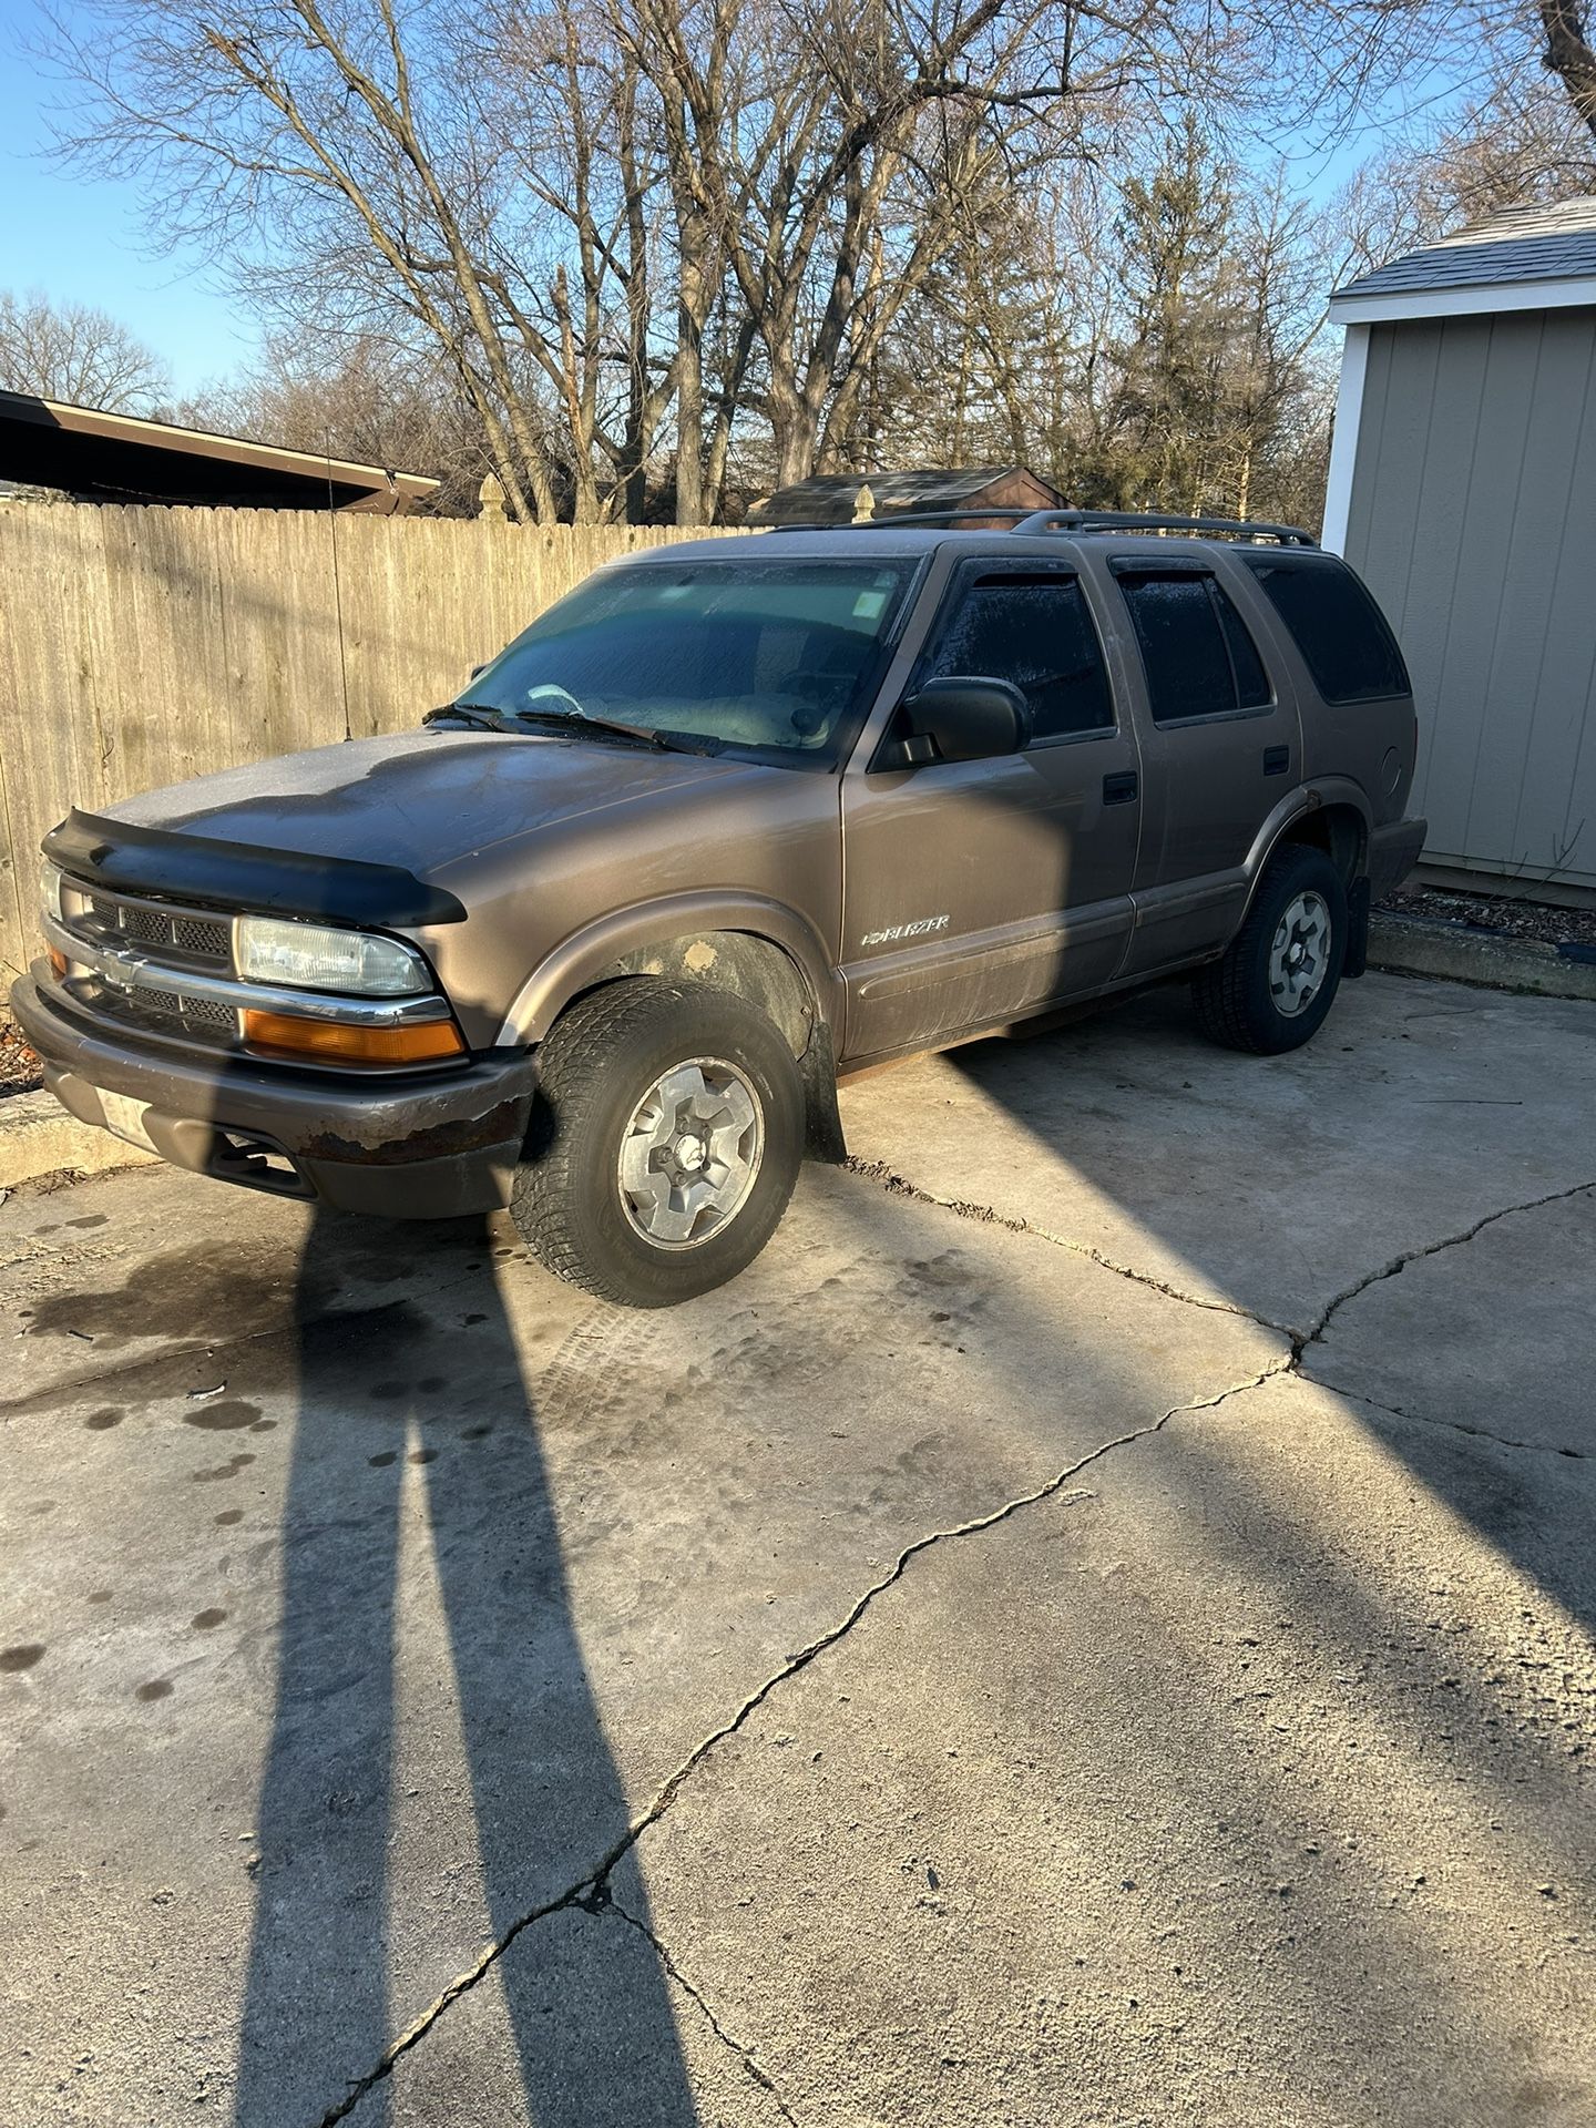
<path id="1" fill-rule="evenodd" d="M 849 1062 L 1096 990 L 1130 943 L 1138 745 L 1077 570 L 1051 558 L 960 564 L 907 692 L 951 677 L 1017 685 L 1030 741 L 998 760 L 849 764 Z"/>

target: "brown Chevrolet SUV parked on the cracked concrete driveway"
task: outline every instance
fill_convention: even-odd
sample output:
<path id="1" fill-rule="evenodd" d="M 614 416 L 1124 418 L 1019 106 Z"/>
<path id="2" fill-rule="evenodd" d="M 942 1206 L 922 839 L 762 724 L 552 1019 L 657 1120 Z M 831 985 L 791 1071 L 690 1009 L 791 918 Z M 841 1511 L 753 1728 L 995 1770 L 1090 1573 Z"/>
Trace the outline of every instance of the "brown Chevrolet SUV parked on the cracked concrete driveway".
<path id="1" fill-rule="evenodd" d="M 70 813 L 13 1000 L 62 1102 L 166 1160 L 509 1202 L 655 1307 L 841 1158 L 841 1073 L 1170 970 L 1219 1041 L 1304 1043 L 1424 843 L 1413 751 L 1390 628 L 1292 528 L 702 541 L 421 730 Z"/>

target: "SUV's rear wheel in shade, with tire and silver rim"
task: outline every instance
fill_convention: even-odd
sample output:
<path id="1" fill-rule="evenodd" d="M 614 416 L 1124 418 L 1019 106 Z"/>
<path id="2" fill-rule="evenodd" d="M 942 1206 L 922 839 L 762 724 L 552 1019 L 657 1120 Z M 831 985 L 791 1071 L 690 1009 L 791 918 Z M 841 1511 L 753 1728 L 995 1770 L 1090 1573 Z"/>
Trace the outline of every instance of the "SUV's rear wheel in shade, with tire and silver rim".
<path id="1" fill-rule="evenodd" d="M 1321 849 L 1281 851 L 1224 958 L 1192 979 L 1202 1032 L 1253 1055 L 1300 1049 L 1324 1026 L 1345 958 L 1347 883 Z"/>

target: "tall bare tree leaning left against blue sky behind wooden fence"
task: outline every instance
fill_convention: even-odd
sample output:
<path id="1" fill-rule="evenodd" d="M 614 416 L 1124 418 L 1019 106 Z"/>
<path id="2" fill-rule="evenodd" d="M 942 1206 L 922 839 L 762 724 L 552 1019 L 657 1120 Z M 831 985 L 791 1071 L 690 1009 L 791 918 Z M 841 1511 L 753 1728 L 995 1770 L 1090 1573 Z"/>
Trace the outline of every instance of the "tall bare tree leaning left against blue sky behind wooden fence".
<path id="1" fill-rule="evenodd" d="M 506 260 L 515 143 L 483 126 L 458 28 L 402 0 L 240 0 L 221 19 L 204 0 L 100 0 L 55 23 L 92 98 L 66 149 L 164 177 L 160 232 L 247 262 L 255 298 L 309 330 L 398 315 L 426 334 L 515 515 L 551 519 L 572 404 L 562 296 L 538 304 Z"/>

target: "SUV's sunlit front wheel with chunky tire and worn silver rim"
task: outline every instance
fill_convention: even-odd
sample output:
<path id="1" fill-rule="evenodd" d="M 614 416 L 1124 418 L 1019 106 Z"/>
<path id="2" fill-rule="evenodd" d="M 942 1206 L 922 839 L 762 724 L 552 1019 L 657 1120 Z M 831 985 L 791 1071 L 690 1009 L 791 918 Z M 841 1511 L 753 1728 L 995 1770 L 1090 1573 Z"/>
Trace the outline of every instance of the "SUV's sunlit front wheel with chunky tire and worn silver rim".
<path id="1" fill-rule="evenodd" d="M 538 1062 L 511 1215 L 541 1264 L 602 1300 L 666 1309 L 753 1262 L 804 1151 L 802 1079 L 764 1013 L 700 983 L 628 979 L 579 998 Z"/>

